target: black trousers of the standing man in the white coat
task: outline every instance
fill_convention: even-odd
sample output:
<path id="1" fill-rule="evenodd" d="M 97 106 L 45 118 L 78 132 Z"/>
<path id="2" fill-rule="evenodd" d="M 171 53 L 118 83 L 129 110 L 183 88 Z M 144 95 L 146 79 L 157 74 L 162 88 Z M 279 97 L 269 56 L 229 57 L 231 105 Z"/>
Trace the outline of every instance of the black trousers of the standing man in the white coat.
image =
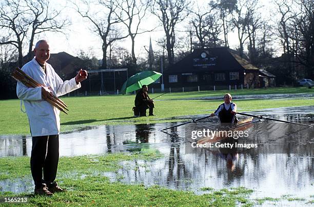
<path id="1" fill-rule="evenodd" d="M 32 137 L 30 165 L 35 188 L 55 180 L 58 161 L 59 135 Z"/>

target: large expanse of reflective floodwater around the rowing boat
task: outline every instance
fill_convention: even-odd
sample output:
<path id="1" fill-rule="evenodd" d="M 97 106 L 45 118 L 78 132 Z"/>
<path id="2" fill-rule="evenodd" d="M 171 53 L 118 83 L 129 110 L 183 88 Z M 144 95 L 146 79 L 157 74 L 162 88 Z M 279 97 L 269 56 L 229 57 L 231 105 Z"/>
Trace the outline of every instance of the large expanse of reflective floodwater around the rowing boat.
<path id="1" fill-rule="evenodd" d="M 313 126 L 313 111 L 314 106 L 286 107 L 253 111 L 250 114 Z M 241 186 L 253 190 L 252 198 L 287 198 L 292 203 L 312 200 L 313 127 L 274 121 L 256 122 L 248 129 L 249 136 L 239 138 L 238 143 L 256 143 L 257 148 L 198 148 L 187 153 L 190 144 L 188 132 L 200 127 L 214 127 L 217 119 L 168 129 L 167 133 L 161 131 L 176 124 L 87 127 L 86 130 L 60 135 L 60 155 L 157 151 L 164 156 L 152 161 L 123 161 L 120 170 L 104 175 L 111 181 L 143 183 L 145 186 L 157 184 L 196 194 Z M 30 152 L 30 137 L 0 136 L 0 157 L 30 156 Z M 31 177 L 14 181 L 0 180 L 0 191 L 31 193 L 31 183 Z"/>

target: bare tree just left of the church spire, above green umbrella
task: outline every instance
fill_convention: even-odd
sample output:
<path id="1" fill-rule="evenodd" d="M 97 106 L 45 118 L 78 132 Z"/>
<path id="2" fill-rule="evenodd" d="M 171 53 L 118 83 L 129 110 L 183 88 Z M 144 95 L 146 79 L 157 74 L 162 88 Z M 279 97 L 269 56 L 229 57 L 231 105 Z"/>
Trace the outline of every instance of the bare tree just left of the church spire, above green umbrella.
<path id="1" fill-rule="evenodd" d="M 152 30 L 142 30 L 140 31 L 140 24 L 143 18 L 146 16 L 146 11 L 148 9 L 149 2 L 141 2 L 139 0 L 119 0 L 116 2 L 118 11 L 114 11 L 116 16 L 119 17 L 120 21 L 127 27 L 129 36 L 132 42 L 132 62 L 136 65 L 136 56 L 134 51 L 135 37 L 138 34 L 143 34 Z"/>

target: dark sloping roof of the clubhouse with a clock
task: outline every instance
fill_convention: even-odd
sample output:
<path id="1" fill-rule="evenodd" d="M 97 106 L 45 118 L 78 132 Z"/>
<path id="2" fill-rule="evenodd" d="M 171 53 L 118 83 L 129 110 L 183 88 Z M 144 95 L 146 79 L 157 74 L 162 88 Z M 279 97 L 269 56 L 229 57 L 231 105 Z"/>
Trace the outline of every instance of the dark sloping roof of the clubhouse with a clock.
<path id="1" fill-rule="evenodd" d="M 202 56 L 203 55 L 203 56 Z M 227 47 L 195 49 L 185 58 L 165 70 L 165 73 L 184 73 L 200 71 L 237 71 L 243 69 L 258 70 L 248 61 L 240 58 Z"/>

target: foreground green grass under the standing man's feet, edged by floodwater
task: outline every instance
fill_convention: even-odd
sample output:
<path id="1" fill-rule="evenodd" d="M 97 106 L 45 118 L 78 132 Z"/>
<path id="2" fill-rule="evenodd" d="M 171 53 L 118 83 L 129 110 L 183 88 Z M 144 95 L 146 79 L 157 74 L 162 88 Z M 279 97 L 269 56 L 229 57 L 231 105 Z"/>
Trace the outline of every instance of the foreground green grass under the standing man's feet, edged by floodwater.
<path id="1" fill-rule="evenodd" d="M 242 203 L 251 206 L 248 196 L 251 190 L 244 187 L 221 189 L 210 194 L 195 195 L 188 191 L 174 191 L 160 186 L 146 187 L 143 184 L 123 184 L 109 182 L 104 172 L 116 172 L 122 168 L 121 161 L 153 160 L 162 155 L 154 153 L 107 154 L 105 156 L 61 157 L 57 177 L 67 193 L 53 197 L 33 196 L 32 194 L 13 194 L 0 192 L 1 197 L 28 197 L 26 206 L 63 206 L 63 205 L 159 205 L 159 206 L 233 206 Z M 30 177 L 28 157 L 0 158 L 0 180 Z M 19 169 L 16 171 L 16 169 Z M 8 176 L 10 175 L 10 176 Z M 2 203 L 11 206 L 10 203 Z M 16 203 L 15 203 L 16 204 Z"/>

